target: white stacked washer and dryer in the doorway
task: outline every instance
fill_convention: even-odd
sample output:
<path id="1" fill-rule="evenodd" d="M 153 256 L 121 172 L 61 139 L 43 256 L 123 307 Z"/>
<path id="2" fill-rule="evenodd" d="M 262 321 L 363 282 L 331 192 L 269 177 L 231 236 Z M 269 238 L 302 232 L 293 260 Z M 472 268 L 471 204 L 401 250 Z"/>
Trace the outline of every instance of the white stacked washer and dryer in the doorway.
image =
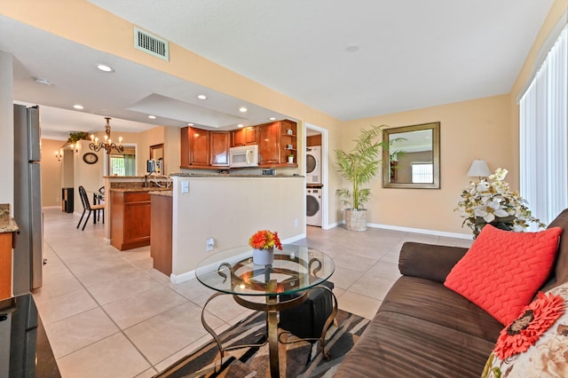
<path id="1" fill-rule="evenodd" d="M 321 226 L 321 146 L 306 148 L 306 224 Z"/>

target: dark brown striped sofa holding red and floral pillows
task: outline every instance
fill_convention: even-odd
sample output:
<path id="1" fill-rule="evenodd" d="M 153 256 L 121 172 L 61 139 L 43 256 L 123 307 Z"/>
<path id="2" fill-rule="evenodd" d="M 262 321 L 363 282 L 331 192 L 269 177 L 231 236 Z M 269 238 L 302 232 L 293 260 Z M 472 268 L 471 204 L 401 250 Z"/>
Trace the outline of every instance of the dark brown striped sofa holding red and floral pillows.
<path id="1" fill-rule="evenodd" d="M 546 291 L 568 280 L 568 209 L 548 227 L 564 232 Z M 406 242 L 375 318 L 335 377 L 479 377 L 504 327 L 444 286 L 466 248 Z"/>

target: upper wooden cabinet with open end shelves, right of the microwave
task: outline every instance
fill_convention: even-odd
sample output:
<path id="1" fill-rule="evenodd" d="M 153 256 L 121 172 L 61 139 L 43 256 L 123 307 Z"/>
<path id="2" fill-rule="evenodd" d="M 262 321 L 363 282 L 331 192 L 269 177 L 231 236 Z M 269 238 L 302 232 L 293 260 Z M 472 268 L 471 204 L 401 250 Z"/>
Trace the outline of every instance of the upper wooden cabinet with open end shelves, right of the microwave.
<path id="1" fill-rule="evenodd" d="M 258 165 L 261 167 L 297 167 L 297 123 L 289 120 L 256 126 Z M 294 162 L 288 163 L 288 155 Z"/>

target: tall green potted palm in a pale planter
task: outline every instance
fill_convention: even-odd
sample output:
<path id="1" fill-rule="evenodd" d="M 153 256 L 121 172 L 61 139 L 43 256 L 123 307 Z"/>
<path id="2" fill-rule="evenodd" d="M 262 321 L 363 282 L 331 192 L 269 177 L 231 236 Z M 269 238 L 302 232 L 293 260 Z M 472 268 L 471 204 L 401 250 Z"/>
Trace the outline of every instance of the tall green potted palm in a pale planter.
<path id="1" fill-rule="evenodd" d="M 363 187 L 375 177 L 381 160 L 382 149 L 385 143 L 381 141 L 381 130 L 385 127 L 373 126 L 369 130 L 361 130 L 359 138 L 350 153 L 343 150 L 335 150 L 338 171 L 342 177 L 351 183 L 351 189 L 337 189 L 345 207 L 345 225 L 350 231 L 367 230 L 367 209 L 365 202 L 369 199 L 371 190 Z"/>

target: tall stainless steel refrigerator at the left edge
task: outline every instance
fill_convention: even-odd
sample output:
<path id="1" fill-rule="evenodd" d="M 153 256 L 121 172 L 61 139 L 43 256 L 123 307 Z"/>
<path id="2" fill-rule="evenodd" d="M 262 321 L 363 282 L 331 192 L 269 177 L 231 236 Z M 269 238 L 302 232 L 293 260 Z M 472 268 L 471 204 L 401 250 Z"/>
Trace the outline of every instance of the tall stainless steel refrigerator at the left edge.
<path id="1" fill-rule="evenodd" d="M 39 108 L 14 105 L 14 220 L 20 228 L 13 254 L 13 293 L 42 286 L 43 220 Z"/>

